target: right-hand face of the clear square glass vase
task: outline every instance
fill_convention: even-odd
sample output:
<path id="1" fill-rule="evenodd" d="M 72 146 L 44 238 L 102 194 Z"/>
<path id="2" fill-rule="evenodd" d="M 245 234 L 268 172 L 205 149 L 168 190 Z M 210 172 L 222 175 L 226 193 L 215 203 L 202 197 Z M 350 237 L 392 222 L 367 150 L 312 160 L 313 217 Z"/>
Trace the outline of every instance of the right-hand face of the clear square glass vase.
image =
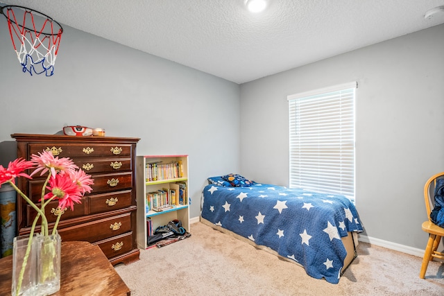
<path id="1" fill-rule="evenodd" d="M 56 232 L 54 235 L 35 236 L 36 272 L 35 295 L 51 295 L 60 290 L 60 254 L 61 238 Z"/>

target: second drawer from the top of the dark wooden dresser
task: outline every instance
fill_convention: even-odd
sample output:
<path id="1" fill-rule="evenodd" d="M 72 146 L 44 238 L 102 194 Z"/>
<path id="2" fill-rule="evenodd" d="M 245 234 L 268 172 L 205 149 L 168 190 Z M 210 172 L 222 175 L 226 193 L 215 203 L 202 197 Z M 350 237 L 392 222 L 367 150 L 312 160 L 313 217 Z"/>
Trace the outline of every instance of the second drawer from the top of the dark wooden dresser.
<path id="1" fill-rule="evenodd" d="M 78 168 L 91 175 L 93 173 L 133 171 L 130 158 L 73 158 Z"/>

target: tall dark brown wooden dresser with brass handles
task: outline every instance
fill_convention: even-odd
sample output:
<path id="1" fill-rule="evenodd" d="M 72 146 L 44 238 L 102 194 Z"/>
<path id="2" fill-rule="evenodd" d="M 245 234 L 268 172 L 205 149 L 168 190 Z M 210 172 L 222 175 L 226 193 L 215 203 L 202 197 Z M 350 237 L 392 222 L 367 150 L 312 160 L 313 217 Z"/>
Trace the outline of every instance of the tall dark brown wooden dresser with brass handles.
<path id="1" fill-rule="evenodd" d="M 136 244 L 135 155 L 137 138 L 71 137 L 46 134 L 11 134 L 17 141 L 17 157 L 51 150 L 54 156 L 69 157 L 88 175 L 92 175 L 92 192 L 82 204 L 65 210 L 58 225 L 62 241 L 89 241 L 99 245 L 112 265 L 139 260 Z M 37 202 L 46 175 L 33 180 L 20 177 L 19 189 Z M 49 228 L 56 222 L 53 214 L 58 201 L 45 207 Z M 36 212 L 23 199 L 17 200 L 19 235 L 28 234 Z M 40 225 L 40 222 L 37 223 Z"/>

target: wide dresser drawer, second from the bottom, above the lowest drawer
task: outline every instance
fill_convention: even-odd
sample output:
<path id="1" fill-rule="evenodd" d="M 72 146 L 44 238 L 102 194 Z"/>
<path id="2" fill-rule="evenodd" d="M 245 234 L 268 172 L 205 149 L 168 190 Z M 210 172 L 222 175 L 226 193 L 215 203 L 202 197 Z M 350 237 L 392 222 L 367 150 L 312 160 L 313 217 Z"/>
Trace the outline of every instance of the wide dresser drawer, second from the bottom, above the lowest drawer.
<path id="1" fill-rule="evenodd" d="M 130 232 L 130 230 L 131 213 L 127 213 L 59 229 L 58 232 L 62 237 L 62 241 L 89 241 L 89 243 L 94 243 L 105 238 Z"/>

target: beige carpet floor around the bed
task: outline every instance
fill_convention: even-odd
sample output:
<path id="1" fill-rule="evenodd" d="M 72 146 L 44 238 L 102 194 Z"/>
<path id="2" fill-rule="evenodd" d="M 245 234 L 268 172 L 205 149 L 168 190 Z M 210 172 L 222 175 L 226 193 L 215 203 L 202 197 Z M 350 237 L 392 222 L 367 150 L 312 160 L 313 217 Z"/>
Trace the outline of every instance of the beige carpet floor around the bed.
<path id="1" fill-rule="evenodd" d="M 443 263 L 430 262 L 420 279 L 422 258 L 368 243 L 359 243 L 357 259 L 330 284 L 203 223 L 190 232 L 115 267 L 131 295 L 444 295 Z"/>

